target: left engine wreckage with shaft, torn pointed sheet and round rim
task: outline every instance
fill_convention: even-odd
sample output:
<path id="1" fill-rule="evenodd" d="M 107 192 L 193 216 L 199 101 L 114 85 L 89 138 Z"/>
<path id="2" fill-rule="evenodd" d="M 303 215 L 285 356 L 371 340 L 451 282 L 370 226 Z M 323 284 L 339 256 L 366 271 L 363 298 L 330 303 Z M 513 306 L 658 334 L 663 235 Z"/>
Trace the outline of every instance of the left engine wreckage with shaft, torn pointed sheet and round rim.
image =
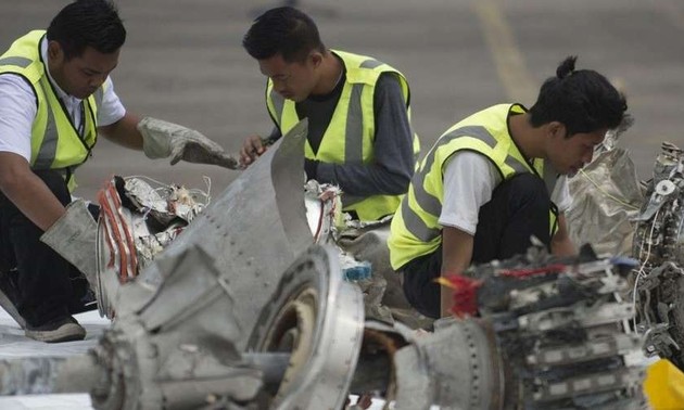
<path id="1" fill-rule="evenodd" d="M 144 218 L 107 195 L 97 287 L 111 329 L 85 355 L 0 361 L 0 392 L 89 392 L 107 410 L 339 409 L 364 304 L 335 251 L 307 251 L 305 136 L 303 121 L 139 274 L 126 230 Z"/>

